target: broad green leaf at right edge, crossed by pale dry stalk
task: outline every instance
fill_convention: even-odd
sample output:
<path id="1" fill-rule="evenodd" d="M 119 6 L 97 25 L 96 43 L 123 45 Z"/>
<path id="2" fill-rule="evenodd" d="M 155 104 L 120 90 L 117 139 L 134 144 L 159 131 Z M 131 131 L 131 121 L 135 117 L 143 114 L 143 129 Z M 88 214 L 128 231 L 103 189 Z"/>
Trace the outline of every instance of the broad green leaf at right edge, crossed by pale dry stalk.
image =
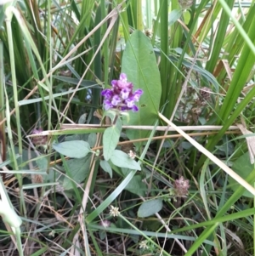
<path id="1" fill-rule="evenodd" d="M 232 166 L 232 169 L 243 179 L 246 179 L 251 173 L 255 175 L 255 169 L 254 166 L 251 164 L 249 152 L 246 152 L 244 155 L 236 159 Z M 250 184 L 252 185 L 252 183 Z M 236 191 L 240 187 L 240 184 L 231 177 L 229 177 L 229 185 L 232 191 Z M 242 195 L 251 198 L 254 197 L 249 191 L 245 191 Z"/>

